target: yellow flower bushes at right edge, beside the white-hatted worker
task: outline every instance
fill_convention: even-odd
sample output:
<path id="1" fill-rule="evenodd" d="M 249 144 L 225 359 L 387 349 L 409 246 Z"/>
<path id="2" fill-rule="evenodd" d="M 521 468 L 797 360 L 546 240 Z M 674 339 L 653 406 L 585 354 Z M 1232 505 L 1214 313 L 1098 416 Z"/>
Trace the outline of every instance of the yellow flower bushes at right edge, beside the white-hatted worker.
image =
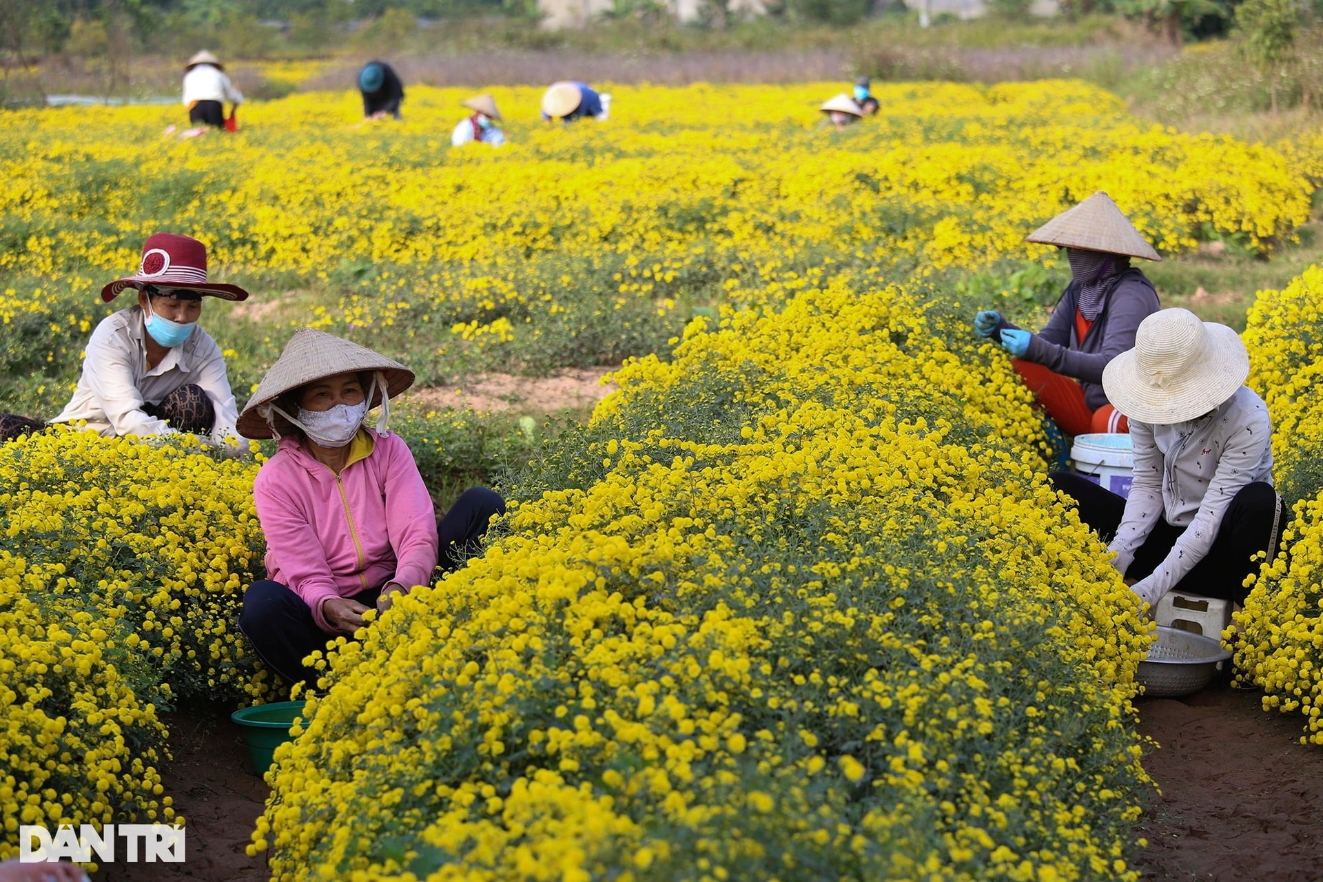
<path id="1" fill-rule="evenodd" d="M 1261 291 L 1245 342 L 1250 385 L 1273 415 L 1278 491 L 1294 502 L 1289 555 L 1263 567 L 1240 614 L 1240 677 L 1263 689 L 1263 709 L 1301 713 L 1302 741 L 1323 744 L 1323 267 L 1282 291 Z"/>

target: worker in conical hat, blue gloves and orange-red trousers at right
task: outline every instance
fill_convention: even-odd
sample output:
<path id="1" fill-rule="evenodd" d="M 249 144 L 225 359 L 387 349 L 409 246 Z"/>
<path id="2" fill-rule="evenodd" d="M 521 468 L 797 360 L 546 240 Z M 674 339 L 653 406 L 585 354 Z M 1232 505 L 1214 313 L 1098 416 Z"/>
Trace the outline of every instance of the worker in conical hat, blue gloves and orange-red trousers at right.
<path id="1" fill-rule="evenodd" d="M 975 332 L 1009 350 L 1024 385 L 1066 435 L 1125 432 L 1125 415 L 1103 391 L 1102 369 L 1135 345 L 1139 323 L 1162 308 L 1152 282 L 1130 258 L 1162 258 L 1102 192 L 1025 241 L 1064 247 L 1070 284 L 1043 331 L 1031 333 L 983 311 L 974 317 Z"/>

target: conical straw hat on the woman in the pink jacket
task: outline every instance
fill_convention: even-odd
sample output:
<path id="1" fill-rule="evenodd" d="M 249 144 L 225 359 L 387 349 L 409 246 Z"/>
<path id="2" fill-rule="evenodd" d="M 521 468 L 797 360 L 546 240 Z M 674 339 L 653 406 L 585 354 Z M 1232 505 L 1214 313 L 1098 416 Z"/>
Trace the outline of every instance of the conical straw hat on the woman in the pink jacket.
<path id="1" fill-rule="evenodd" d="M 392 361 L 377 354 L 366 346 L 341 340 L 335 335 L 312 328 L 299 328 L 290 342 L 284 344 L 284 352 L 275 360 L 271 369 L 262 377 L 257 391 L 243 405 L 239 414 L 238 432 L 243 438 L 270 438 L 271 427 L 266 418 L 258 413 L 262 405 L 269 405 L 287 391 L 306 386 L 314 380 L 333 377 L 349 373 L 351 370 L 382 372 L 386 376 L 388 397 L 394 398 L 413 385 L 414 373 L 398 361 Z M 381 403 L 381 393 L 377 391 L 368 407 Z"/>

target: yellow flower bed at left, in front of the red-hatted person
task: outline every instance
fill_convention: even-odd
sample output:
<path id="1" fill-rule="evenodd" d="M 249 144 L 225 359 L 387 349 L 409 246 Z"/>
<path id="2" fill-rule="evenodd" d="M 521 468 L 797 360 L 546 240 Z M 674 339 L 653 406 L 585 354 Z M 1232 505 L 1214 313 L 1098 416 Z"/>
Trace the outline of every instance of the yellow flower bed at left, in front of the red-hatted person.
<path id="1" fill-rule="evenodd" d="M 0 860 L 19 824 L 172 819 L 156 710 L 269 689 L 233 625 L 255 471 L 64 428 L 0 446 Z"/>

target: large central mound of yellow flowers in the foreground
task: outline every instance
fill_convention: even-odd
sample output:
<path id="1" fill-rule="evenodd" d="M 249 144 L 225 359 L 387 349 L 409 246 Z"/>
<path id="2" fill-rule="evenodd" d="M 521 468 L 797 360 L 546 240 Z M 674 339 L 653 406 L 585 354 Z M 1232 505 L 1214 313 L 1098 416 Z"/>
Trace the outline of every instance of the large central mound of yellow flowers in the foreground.
<path id="1" fill-rule="evenodd" d="M 1147 624 L 958 304 L 697 320 L 332 653 L 282 879 L 1134 879 Z"/>

